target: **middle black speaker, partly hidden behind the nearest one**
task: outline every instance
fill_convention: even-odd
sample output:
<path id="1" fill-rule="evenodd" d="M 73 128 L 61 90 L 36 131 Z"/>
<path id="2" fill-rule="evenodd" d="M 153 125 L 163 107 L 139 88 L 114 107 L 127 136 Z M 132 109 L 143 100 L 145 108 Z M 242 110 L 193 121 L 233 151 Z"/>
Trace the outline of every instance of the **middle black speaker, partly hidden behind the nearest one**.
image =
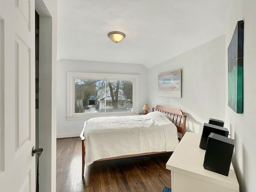
<path id="1" fill-rule="evenodd" d="M 208 139 L 208 136 L 210 135 L 210 133 L 216 133 L 216 134 L 228 137 L 228 129 L 227 128 L 204 123 L 204 128 L 203 128 L 200 145 L 199 145 L 199 147 L 201 149 L 206 149 L 207 139 Z"/>

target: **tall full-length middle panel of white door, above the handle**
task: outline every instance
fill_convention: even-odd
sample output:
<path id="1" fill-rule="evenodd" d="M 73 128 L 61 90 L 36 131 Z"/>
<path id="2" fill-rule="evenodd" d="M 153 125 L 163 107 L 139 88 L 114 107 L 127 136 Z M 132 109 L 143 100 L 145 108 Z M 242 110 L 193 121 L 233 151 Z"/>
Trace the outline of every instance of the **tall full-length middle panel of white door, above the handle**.
<path id="1" fill-rule="evenodd" d="M 30 48 L 16 37 L 15 42 L 16 152 L 30 141 Z"/>

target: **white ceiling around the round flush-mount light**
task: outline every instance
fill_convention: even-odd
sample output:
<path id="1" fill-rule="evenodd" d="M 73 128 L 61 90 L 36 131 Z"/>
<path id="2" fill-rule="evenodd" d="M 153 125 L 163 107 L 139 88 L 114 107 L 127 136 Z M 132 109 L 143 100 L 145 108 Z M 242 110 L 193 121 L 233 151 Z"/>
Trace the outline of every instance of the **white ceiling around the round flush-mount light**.
<path id="1" fill-rule="evenodd" d="M 225 33 L 230 0 L 58 0 L 57 60 L 150 68 Z M 126 38 L 114 43 L 111 31 Z"/>

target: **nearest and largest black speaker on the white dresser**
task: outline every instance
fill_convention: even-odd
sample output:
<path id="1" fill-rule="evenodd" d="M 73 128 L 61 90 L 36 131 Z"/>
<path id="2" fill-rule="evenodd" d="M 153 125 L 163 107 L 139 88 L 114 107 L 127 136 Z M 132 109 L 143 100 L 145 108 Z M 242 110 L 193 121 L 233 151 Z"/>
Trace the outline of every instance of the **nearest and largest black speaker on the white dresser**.
<path id="1" fill-rule="evenodd" d="M 204 156 L 204 168 L 228 176 L 235 140 L 211 133 Z"/>

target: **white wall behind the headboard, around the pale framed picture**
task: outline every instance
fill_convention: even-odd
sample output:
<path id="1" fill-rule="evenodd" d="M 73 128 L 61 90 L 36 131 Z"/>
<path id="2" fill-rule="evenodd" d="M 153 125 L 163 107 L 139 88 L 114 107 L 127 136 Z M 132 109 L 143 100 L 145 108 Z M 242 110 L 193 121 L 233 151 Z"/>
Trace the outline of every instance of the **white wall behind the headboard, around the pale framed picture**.
<path id="1" fill-rule="evenodd" d="M 158 74 L 181 69 L 182 97 L 158 96 Z M 216 38 L 148 69 L 148 103 L 180 108 L 188 115 L 186 130 L 202 132 L 209 118 L 224 120 L 225 36 Z"/>

